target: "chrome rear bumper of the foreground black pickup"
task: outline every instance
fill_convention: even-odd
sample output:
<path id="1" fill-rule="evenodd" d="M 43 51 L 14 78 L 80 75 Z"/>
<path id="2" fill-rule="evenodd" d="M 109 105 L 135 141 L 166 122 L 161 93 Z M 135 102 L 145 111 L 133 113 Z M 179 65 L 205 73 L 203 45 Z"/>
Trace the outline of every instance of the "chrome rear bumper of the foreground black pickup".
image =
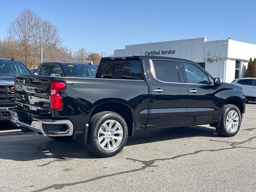
<path id="1" fill-rule="evenodd" d="M 45 119 L 45 118 L 33 118 L 31 125 L 26 123 L 26 122 L 22 122 L 22 120 L 19 119 L 20 115 L 18 114 L 19 112 L 16 111 L 15 109 L 10 110 L 10 114 L 11 114 L 11 122 L 13 124 L 15 124 L 16 126 L 21 126 L 21 127 L 26 127 L 30 130 L 33 131 L 38 131 L 40 133 L 42 133 L 44 136 L 51 136 L 51 137 L 56 137 L 56 136 L 72 136 L 73 132 L 74 132 L 74 126 L 72 124 L 72 122 L 70 122 L 70 120 L 52 120 L 52 119 Z M 52 131 L 52 134 L 50 134 L 48 131 L 48 133 L 46 133 L 46 131 L 44 130 L 43 126 L 44 125 L 65 125 L 66 126 L 66 130 L 64 131 Z"/>

